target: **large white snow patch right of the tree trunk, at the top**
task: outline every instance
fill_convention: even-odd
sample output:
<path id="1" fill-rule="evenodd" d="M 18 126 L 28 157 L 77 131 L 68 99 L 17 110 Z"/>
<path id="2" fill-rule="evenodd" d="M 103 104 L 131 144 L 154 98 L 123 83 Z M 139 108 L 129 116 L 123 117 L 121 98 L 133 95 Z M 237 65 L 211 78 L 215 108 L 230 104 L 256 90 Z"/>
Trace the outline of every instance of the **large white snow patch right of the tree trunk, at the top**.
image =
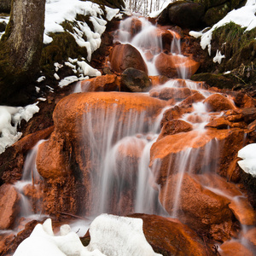
<path id="1" fill-rule="evenodd" d="M 119 14 L 119 9 L 110 9 L 105 7 L 107 20 Z M 91 54 L 100 47 L 101 36 L 106 29 L 107 20 L 102 18 L 103 10 L 96 3 L 79 0 L 47 0 L 45 5 L 44 22 L 44 44 L 50 44 L 52 38 L 50 33 L 64 32 L 61 23 L 65 20 L 75 21 L 73 24 L 73 35 L 80 47 L 87 49 L 87 60 L 90 61 Z M 77 15 L 90 15 L 90 22 L 93 24 L 94 31 L 85 21 L 75 20 Z M 84 40 L 84 36 L 86 41 Z"/>

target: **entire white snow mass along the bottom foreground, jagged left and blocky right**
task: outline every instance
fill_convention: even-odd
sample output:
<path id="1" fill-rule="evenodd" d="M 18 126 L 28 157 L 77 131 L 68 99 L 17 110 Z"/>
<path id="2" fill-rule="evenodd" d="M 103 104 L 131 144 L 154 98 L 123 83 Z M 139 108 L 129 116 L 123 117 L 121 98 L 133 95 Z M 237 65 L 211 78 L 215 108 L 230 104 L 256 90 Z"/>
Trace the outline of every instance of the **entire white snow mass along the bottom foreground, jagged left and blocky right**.
<path id="1" fill-rule="evenodd" d="M 38 224 L 31 236 L 20 243 L 14 256 L 156 256 L 143 234 L 141 218 L 102 214 L 90 224 L 90 244 L 84 247 L 79 236 L 66 224 L 55 236 L 51 220 Z"/>

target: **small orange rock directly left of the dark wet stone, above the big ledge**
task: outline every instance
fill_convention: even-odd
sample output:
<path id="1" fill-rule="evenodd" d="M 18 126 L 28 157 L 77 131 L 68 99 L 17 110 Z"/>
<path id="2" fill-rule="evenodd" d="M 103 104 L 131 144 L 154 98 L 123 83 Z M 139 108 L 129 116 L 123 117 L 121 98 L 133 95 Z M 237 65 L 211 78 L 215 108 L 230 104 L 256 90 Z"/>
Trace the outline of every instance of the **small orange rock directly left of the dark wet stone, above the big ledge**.
<path id="1" fill-rule="evenodd" d="M 93 79 L 81 81 L 81 90 L 86 91 L 115 91 L 120 90 L 119 80 L 114 74 L 107 74 Z"/>

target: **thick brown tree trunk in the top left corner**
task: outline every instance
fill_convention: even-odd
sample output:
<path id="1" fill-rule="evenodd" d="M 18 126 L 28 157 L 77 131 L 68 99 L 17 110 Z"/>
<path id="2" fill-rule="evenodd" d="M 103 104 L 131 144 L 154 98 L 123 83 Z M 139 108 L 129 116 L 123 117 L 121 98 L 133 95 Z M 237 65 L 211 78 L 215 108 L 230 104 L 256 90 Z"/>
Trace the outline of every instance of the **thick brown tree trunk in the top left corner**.
<path id="1" fill-rule="evenodd" d="M 0 43 L 0 104 L 26 101 L 24 86 L 29 86 L 39 71 L 45 1 L 12 1 L 9 24 Z M 15 98 L 20 91 L 21 98 Z"/>

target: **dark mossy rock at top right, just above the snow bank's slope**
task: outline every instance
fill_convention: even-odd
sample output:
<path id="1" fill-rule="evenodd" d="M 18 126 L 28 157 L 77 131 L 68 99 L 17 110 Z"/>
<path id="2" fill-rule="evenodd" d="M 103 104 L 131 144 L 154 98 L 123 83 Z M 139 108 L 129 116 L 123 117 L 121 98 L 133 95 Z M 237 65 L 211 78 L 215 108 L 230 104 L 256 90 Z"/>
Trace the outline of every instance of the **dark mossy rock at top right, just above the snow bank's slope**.
<path id="1" fill-rule="evenodd" d="M 230 3 L 224 3 L 216 7 L 207 9 L 203 20 L 207 24 L 207 26 L 212 26 L 213 24 L 217 23 L 218 20 L 223 19 L 224 16 L 228 14 L 228 12 L 230 12 Z"/>

